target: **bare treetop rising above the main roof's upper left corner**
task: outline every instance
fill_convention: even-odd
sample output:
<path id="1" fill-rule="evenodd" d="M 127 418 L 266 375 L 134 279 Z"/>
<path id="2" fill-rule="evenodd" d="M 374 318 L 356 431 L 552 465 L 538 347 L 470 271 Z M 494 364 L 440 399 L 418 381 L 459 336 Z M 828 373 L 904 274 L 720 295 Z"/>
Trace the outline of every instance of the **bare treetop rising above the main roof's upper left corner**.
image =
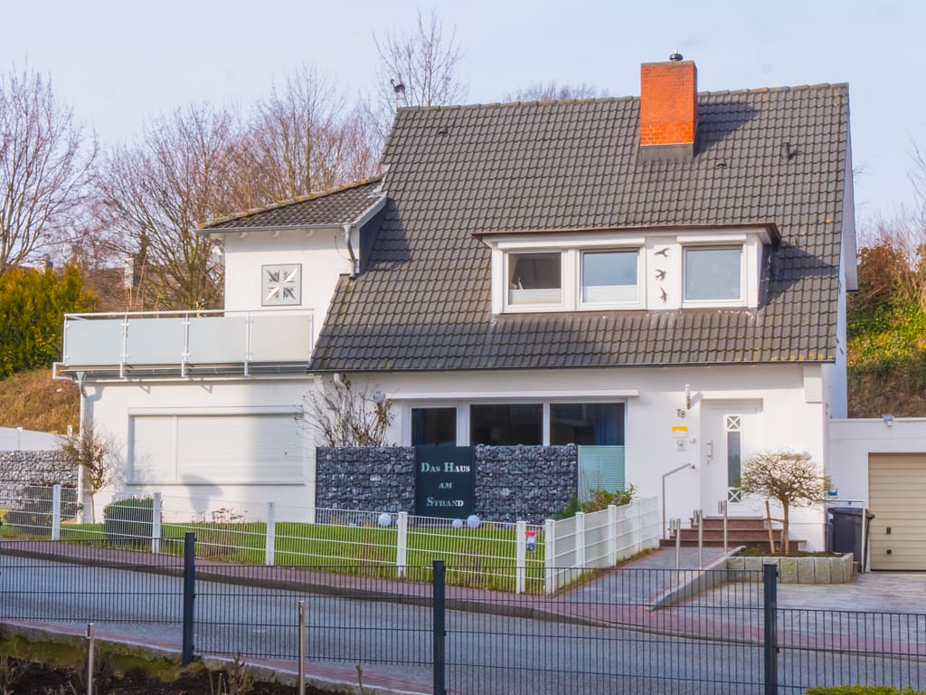
<path id="1" fill-rule="evenodd" d="M 373 35 L 380 54 L 377 81 L 381 92 L 373 107 L 384 136 L 396 107 L 432 107 L 455 104 L 465 98 L 467 86 L 457 74 L 463 49 L 456 28 L 444 34 L 444 23 L 432 11 L 411 32 L 393 29 L 382 38 Z"/>

